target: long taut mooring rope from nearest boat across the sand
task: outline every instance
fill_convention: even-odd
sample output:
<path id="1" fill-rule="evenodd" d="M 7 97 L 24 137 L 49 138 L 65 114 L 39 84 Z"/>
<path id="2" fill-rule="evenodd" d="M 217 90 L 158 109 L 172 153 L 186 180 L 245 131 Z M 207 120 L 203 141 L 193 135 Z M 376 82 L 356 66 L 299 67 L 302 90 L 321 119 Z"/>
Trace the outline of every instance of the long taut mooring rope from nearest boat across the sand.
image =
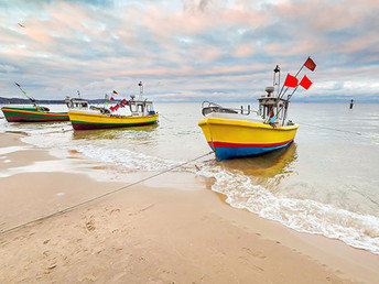
<path id="1" fill-rule="evenodd" d="M 151 178 L 153 178 L 153 177 L 156 177 L 156 176 L 159 176 L 159 175 L 165 174 L 165 173 L 171 172 L 171 171 L 173 171 L 173 170 L 175 170 L 175 168 L 182 167 L 182 166 L 184 166 L 184 165 L 186 165 L 186 164 L 190 164 L 190 163 L 192 163 L 192 162 L 194 162 L 194 161 L 196 161 L 196 160 L 199 160 L 199 159 L 202 159 L 202 157 L 205 157 L 205 156 L 207 156 L 207 155 L 209 155 L 209 154 L 212 154 L 212 153 L 213 153 L 213 151 L 210 151 L 209 153 L 206 153 L 206 154 L 204 154 L 204 155 L 197 156 L 197 157 L 195 157 L 195 159 L 192 159 L 192 160 L 190 160 L 190 161 L 187 161 L 187 162 L 184 162 L 184 163 L 182 163 L 182 164 L 180 164 L 180 165 L 175 165 L 175 166 L 172 166 L 172 167 L 170 167 L 170 168 L 166 168 L 166 170 L 164 170 L 164 171 L 162 171 L 162 172 L 159 172 L 159 173 L 156 173 L 156 174 L 154 174 L 154 175 L 151 175 L 151 176 L 148 176 L 148 177 L 145 177 L 145 178 L 142 178 L 142 179 L 138 181 L 138 182 L 131 183 L 131 184 L 129 184 L 129 185 L 122 186 L 122 187 L 120 187 L 120 188 L 117 188 L 117 189 L 107 192 L 107 193 L 101 194 L 101 195 L 98 195 L 98 196 L 95 196 L 95 197 L 93 197 L 93 198 L 90 198 L 90 199 L 87 199 L 87 200 L 84 200 L 84 201 L 82 201 L 82 203 L 78 203 L 78 204 L 68 206 L 68 207 L 66 207 L 66 208 L 64 208 L 64 209 L 61 209 L 61 210 L 58 210 L 58 211 L 55 211 L 55 212 L 52 212 L 52 214 L 48 214 L 48 215 L 45 215 L 45 216 L 42 216 L 42 217 L 36 218 L 36 219 L 34 219 L 34 220 L 31 220 L 31 221 L 28 221 L 28 222 L 24 222 L 24 223 L 17 225 L 17 226 L 14 226 L 14 227 L 12 227 L 12 228 L 9 228 L 9 229 L 7 229 L 7 230 L 0 231 L 0 236 L 1 236 L 1 234 L 4 234 L 4 233 L 7 233 L 7 232 L 13 231 L 13 230 L 23 228 L 23 227 L 25 227 L 25 226 L 28 226 L 28 225 L 31 225 L 31 223 L 33 223 L 33 222 L 42 221 L 42 220 L 45 220 L 45 219 L 51 218 L 51 217 L 53 217 L 53 216 L 56 216 L 56 215 L 59 215 L 59 214 L 64 214 L 64 212 L 66 212 L 66 211 L 68 211 L 68 210 L 75 209 L 75 208 L 80 207 L 80 206 L 83 206 L 83 205 L 85 205 L 85 204 L 89 204 L 89 203 L 95 201 L 95 200 L 97 200 L 97 199 L 104 198 L 104 197 L 106 197 L 106 196 L 108 196 L 108 195 L 111 195 L 111 194 L 121 192 L 121 190 L 123 190 L 123 189 L 127 189 L 127 188 L 129 188 L 129 187 L 132 187 L 132 186 L 134 186 L 134 185 L 138 185 L 138 184 L 140 184 L 140 183 L 143 183 L 143 182 L 145 182 L 145 181 L 149 181 L 149 179 L 151 179 Z"/>

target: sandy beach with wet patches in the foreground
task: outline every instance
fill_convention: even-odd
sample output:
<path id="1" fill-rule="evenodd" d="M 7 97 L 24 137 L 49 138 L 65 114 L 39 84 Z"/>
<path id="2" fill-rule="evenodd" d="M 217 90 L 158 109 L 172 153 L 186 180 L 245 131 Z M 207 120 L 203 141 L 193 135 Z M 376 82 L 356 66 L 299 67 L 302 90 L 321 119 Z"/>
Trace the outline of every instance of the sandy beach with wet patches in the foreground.
<path id="1" fill-rule="evenodd" d="M 0 134 L 0 149 L 10 146 L 22 150 L 0 155 L 3 173 L 57 160 L 19 134 Z M 1 234 L 1 282 L 379 282 L 378 255 L 232 208 L 209 190 L 212 179 L 181 175 Z M 0 229 L 124 185 L 59 171 L 2 176 Z"/>

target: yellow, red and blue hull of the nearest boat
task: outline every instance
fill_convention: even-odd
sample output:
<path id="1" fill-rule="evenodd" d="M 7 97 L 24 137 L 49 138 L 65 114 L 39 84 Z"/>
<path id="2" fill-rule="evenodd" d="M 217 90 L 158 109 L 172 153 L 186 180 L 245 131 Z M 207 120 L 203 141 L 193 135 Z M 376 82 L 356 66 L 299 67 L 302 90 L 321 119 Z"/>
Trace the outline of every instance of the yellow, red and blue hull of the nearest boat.
<path id="1" fill-rule="evenodd" d="M 218 161 L 264 154 L 285 148 L 295 138 L 299 125 L 270 124 L 219 118 L 198 122 Z"/>

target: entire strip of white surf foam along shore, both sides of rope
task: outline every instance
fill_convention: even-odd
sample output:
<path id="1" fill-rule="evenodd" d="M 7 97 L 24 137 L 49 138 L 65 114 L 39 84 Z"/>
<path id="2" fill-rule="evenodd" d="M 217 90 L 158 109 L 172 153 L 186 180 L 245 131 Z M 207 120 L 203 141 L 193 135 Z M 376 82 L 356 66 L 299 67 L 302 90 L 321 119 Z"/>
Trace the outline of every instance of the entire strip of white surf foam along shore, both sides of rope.
<path id="1" fill-rule="evenodd" d="M 159 159 L 124 149 L 102 149 L 93 145 L 76 148 L 90 159 L 118 164 L 138 171 L 163 171 L 183 162 Z M 379 254 L 379 218 L 364 216 L 311 199 L 279 197 L 250 177 L 217 165 L 201 166 L 198 175 L 215 178 L 212 189 L 227 196 L 227 203 L 245 208 L 262 218 L 277 220 L 302 232 L 323 234 L 343 240 L 347 244 Z M 193 166 L 181 171 L 194 172 Z"/>

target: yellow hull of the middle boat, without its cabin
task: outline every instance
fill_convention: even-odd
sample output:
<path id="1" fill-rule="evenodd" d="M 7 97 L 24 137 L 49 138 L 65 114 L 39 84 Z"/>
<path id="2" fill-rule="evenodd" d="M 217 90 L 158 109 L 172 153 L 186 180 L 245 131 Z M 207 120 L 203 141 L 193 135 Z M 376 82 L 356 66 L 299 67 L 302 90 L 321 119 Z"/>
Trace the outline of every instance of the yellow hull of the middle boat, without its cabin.
<path id="1" fill-rule="evenodd" d="M 142 127 L 154 124 L 158 120 L 158 113 L 145 117 L 122 117 L 68 111 L 68 117 L 75 130 Z"/>

